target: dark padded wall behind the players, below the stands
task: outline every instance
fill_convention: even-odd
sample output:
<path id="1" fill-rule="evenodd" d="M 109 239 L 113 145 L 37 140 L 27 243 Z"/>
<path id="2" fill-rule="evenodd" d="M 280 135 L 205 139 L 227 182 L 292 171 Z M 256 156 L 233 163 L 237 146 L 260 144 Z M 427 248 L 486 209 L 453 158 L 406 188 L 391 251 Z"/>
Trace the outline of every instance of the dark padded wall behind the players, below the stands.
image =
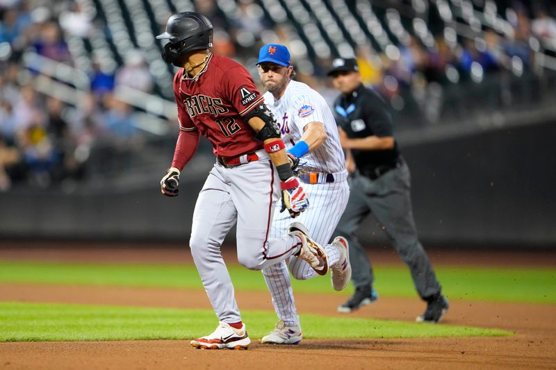
<path id="1" fill-rule="evenodd" d="M 425 244 L 556 247 L 556 122 L 404 144 L 414 215 Z M 0 238 L 186 241 L 192 196 L 153 187 L 95 194 L 15 189 L 0 193 Z M 373 224 L 371 222 L 370 224 Z M 376 226 L 366 242 L 384 243 Z"/>

